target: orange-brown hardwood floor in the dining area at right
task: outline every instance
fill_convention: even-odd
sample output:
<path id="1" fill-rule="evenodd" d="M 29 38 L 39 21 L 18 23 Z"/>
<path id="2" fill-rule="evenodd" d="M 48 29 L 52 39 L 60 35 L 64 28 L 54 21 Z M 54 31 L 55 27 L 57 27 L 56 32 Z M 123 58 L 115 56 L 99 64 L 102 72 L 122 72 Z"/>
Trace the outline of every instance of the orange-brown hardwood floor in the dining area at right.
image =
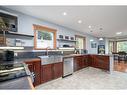
<path id="1" fill-rule="evenodd" d="M 115 61 L 114 62 L 114 70 L 119 72 L 126 72 L 127 73 L 127 62 L 125 61 Z"/>

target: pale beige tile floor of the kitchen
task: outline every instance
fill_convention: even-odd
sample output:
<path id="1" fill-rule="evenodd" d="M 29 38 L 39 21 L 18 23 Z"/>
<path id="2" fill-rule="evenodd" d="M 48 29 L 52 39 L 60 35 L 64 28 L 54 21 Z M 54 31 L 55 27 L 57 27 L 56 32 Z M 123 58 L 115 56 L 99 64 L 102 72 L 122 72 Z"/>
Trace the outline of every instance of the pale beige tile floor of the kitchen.
<path id="1" fill-rule="evenodd" d="M 66 78 L 59 78 L 44 83 L 36 89 L 42 90 L 80 90 L 80 89 L 127 89 L 127 73 L 109 72 L 88 67 L 73 73 Z"/>

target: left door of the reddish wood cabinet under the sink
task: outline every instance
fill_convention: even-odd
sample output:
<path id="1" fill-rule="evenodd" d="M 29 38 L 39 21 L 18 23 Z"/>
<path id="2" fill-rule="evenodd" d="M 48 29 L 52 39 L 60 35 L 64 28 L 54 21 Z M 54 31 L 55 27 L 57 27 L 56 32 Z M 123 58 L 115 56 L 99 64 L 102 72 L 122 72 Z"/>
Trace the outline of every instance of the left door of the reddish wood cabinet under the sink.
<path id="1" fill-rule="evenodd" d="M 41 83 L 48 82 L 53 79 L 52 64 L 41 66 Z"/>

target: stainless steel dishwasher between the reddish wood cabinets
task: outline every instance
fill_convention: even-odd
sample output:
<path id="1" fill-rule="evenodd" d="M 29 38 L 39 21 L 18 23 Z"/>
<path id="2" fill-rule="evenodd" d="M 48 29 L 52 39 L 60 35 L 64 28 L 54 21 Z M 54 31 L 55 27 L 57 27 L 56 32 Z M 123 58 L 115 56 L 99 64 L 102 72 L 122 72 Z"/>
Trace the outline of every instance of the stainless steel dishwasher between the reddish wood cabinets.
<path id="1" fill-rule="evenodd" d="M 73 73 L 73 57 L 63 59 L 63 78 Z"/>

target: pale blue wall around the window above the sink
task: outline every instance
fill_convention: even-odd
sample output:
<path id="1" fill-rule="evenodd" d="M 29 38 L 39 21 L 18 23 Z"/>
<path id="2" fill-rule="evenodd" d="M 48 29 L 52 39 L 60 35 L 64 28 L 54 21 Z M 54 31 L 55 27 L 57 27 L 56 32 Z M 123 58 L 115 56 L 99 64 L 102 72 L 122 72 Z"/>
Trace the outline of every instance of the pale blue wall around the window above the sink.
<path id="1" fill-rule="evenodd" d="M 37 25 L 43 25 L 43 26 L 48 26 L 50 28 L 57 29 L 57 37 L 59 34 L 68 35 L 68 36 L 84 35 L 86 37 L 86 49 L 88 50 L 88 52 L 93 54 L 97 53 L 97 48 L 91 48 L 90 39 L 93 39 L 97 44 L 98 44 L 98 39 L 91 35 L 83 34 L 79 31 L 75 31 L 60 25 L 56 25 L 54 23 L 47 22 L 45 20 L 40 20 L 38 18 L 34 18 L 34 17 L 28 16 L 28 15 L 25 15 L 25 14 L 22 14 L 22 13 L 19 13 L 4 7 L 0 7 L 0 9 L 4 11 L 8 11 L 9 13 L 16 14 L 18 16 L 18 33 L 34 35 L 32 25 L 37 24 Z M 30 43 L 33 43 L 33 40 L 31 40 Z"/>

